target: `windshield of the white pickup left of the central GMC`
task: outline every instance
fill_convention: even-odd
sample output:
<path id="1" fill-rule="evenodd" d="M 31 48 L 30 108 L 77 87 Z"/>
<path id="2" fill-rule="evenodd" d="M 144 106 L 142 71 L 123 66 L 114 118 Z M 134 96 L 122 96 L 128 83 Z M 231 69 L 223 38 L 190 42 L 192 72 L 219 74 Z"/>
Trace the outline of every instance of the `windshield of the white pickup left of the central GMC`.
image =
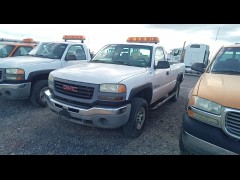
<path id="1" fill-rule="evenodd" d="M 61 59 L 67 44 L 63 43 L 40 43 L 28 53 L 30 56 L 50 59 Z"/>

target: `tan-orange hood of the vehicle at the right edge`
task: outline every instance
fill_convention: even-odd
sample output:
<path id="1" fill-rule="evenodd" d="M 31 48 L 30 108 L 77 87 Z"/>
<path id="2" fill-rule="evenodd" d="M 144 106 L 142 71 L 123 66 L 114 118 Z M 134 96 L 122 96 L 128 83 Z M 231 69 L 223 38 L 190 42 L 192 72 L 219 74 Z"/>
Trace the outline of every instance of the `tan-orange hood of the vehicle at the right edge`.
<path id="1" fill-rule="evenodd" d="M 199 82 L 199 97 L 225 107 L 240 109 L 240 76 L 205 73 Z"/>

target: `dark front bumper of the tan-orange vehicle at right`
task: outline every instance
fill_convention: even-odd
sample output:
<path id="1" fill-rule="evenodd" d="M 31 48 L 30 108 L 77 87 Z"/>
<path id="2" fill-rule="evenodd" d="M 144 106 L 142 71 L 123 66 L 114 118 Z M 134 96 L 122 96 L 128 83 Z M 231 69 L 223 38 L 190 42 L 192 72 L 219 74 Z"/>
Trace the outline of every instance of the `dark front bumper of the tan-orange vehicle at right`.
<path id="1" fill-rule="evenodd" d="M 240 154 L 240 141 L 227 136 L 222 129 L 183 115 L 182 143 L 191 154 Z"/>

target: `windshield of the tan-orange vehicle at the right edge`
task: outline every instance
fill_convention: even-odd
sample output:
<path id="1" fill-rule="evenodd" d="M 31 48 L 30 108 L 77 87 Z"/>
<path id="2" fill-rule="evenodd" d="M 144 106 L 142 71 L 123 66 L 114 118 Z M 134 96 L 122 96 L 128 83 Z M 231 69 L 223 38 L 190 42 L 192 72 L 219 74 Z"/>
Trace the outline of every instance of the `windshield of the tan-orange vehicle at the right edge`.
<path id="1" fill-rule="evenodd" d="M 218 74 L 240 74 L 240 47 L 222 48 L 207 71 Z"/>

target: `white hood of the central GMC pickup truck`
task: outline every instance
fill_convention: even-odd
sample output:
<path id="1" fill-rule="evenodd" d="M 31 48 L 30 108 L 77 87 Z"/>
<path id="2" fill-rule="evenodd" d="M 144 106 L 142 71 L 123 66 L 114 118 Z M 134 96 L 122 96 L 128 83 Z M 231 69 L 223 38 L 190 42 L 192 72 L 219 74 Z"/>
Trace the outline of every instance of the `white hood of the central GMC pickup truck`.
<path id="1" fill-rule="evenodd" d="M 119 83 L 146 71 L 146 68 L 140 67 L 86 62 L 55 70 L 51 74 L 54 77 L 72 81 L 102 84 Z"/>

